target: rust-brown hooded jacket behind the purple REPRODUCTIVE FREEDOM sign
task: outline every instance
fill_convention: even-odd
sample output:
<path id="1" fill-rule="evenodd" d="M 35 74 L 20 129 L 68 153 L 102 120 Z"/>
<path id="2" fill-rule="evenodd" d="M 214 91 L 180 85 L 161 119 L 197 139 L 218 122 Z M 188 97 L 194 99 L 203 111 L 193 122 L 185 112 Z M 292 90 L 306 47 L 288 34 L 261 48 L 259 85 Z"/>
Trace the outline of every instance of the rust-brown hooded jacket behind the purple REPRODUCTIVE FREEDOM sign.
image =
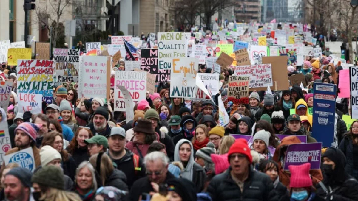
<path id="1" fill-rule="evenodd" d="M 272 160 L 276 161 L 277 164 L 279 165 L 278 173 L 279 173 L 280 181 L 289 190 L 290 190 L 291 173 L 289 171 L 284 171 L 284 164 L 281 164 L 281 160 L 284 160 L 284 158 L 285 158 L 281 149 L 282 149 L 282 147 L 285 147 L 289 144 L 298 144 L 298 143 L 301 143 L 301 141 L 296 136 L 285 137 L 284 139 L 281 140 L 281 143 L 279 144 L 279 146 L 277 146 L 274 157 L 272 158 Z M 310 175 L 312 177 L 313 185 L 316 185 L 316 184 L 318 184 L 318 182 L 323 180 L 321 170 L 310 170 Z"/>

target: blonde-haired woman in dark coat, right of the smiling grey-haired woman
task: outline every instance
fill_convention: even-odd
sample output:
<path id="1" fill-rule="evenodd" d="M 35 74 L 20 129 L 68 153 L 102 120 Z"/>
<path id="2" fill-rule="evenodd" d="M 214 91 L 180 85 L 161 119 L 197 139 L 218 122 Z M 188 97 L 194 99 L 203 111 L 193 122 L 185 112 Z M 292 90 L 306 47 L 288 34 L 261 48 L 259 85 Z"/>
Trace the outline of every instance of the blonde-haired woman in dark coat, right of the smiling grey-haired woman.
<path id="1" fill-rule="evenodd" d="M 101 186 L 114 186 L 119 190 L 128 191 L 125 183 L 126 175 L 124 172 L 113 167 L 111 158 L 106 153 L 97 153 L 89 158 L 89 162 L 100 175 L 101 181 L 97 181 Z"/>

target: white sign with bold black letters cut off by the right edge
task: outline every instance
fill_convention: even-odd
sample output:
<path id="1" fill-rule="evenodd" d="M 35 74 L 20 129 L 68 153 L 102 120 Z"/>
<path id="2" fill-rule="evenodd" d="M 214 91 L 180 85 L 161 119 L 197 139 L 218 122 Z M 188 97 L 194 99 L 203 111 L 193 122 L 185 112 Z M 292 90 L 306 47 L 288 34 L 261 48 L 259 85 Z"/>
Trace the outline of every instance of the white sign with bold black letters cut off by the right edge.
<path id="1" fill-rule="evenodd" d="M 341 72 L 340 70 L 339 72 Z M 358 67 L 349 68 L 350 110 L 352 119 L 358 119 Z"/>

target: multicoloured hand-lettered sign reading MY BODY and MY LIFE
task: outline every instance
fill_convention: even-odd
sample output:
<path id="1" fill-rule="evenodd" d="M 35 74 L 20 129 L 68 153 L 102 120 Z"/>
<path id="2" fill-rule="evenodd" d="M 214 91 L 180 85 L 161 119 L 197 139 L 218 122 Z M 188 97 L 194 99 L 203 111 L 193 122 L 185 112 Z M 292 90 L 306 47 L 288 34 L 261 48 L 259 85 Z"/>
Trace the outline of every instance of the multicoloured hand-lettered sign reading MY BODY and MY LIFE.
<path id="1" fill-rule="evenodd" d="M 17 48 L 21 49 L 21 48 Z M 31 49 L 31 48 L 30 48 Z M 52 103 L 53 100 L 53 60 L 18 60 L 17 87 L 18 93 L 42 94 L 43 101 Z"/>

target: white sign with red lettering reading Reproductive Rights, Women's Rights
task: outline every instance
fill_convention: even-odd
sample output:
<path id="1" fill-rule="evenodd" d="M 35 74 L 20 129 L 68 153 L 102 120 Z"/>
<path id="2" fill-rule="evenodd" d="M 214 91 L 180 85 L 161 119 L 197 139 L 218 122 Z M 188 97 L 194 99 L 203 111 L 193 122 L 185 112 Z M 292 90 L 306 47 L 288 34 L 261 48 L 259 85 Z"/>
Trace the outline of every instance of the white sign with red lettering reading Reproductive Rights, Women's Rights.
<path id="1" fill-rule="evenodd" d="M 271 64 L 243 65 L 233 67 L 237 76 L 250 76 L 250 88 L 272 87 Z"/>

